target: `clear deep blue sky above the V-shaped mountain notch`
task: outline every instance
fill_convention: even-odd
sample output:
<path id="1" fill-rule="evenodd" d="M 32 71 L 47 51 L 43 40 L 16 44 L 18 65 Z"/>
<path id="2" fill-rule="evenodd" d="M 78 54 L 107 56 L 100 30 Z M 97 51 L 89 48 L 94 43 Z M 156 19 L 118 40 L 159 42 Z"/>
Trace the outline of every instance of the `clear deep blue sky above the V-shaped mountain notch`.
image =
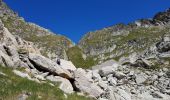
<path id="1" fill-rule="evenodd" d="M 26 21 L 74 42 L 89 32 L 116 23 L 151 18 L 170 7 L 170 0 L 4 0 Z"/>

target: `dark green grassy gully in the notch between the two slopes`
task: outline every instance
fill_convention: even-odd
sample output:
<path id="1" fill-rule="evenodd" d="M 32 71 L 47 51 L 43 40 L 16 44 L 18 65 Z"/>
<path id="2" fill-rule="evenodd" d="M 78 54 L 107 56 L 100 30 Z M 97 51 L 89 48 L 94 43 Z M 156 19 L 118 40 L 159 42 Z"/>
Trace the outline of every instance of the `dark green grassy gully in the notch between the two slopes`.
<path id="1" fill-rule="evenodd" d="M 81 49 L 77 46 L 70 48 L 67 51 L 67 55 L 69 60 L 71 60 L 76 67 L 87 69 L 97 64 L 97 61 L 94 61 L 92 57 L 87 57 L 84 59 Z"/>

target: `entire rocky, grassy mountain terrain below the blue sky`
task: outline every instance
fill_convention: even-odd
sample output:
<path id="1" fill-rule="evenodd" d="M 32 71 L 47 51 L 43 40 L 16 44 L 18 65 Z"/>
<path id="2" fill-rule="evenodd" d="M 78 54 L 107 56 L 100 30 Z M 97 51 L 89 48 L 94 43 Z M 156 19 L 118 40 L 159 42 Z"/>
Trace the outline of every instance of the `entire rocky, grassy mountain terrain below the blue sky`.
<path id="1" fill-rule="evenodd" d="M 73 46 L 0 0 L 0 84 L 2 100 L 169 100 L 170 10 Z"/>

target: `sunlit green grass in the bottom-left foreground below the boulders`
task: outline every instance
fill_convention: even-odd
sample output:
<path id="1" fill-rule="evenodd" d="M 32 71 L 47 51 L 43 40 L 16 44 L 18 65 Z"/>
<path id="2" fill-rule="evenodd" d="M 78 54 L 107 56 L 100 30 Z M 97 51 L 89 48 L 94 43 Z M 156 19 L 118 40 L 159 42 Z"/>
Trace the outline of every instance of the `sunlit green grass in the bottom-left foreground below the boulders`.
<path id="1" fill-rule="evenodd" d="M 28 93 L 28 100 L 90 100 L 76 94 L 68 95 L 68 99 L 64 97 L 64 93 L 48 83 L 36 83 L 16 76 L 11 68 L 0 66 L 0 100 L 16 100 L 23 93 Z"/>

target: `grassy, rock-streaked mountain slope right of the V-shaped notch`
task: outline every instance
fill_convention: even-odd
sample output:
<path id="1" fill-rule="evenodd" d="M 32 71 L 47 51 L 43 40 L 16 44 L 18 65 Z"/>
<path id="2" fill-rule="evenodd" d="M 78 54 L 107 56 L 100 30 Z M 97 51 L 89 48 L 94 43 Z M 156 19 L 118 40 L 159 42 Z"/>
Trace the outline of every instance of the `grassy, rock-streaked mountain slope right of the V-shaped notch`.
<path id="1" fill-rule="evenodd" d="M 157 13 L 153 19 L 141 19 L 128 25 L 117 24 L 87 33 L 78 46 L 97 62 L 119 60 L 133 52 L 141 53 L 170 32 L 170 9 Z"/>

